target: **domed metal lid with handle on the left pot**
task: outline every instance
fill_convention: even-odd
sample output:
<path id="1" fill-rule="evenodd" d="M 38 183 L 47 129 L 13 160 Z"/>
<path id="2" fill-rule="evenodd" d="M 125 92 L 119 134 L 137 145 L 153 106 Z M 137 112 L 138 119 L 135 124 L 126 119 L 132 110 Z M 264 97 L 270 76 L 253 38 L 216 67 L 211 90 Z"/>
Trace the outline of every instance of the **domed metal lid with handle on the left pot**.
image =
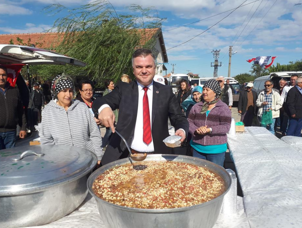
<path id="1" fill-rule="evenodd" d="M 70 182 L 91 171 L 96 162 L 92 152 L 75 146 L 36 145 L 0 150 L 0 196 Z"/>

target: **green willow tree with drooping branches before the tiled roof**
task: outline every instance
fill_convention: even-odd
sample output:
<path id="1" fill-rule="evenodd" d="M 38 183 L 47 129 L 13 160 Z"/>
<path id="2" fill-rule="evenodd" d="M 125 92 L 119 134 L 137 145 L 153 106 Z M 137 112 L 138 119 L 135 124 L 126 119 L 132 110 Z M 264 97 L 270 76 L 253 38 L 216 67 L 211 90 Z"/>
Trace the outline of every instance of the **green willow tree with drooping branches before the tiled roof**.
<path id="1" fill-rule="evenodd" d="M 161 28 L 165 19 L 150 16 L 152 8 L 131 5 L 133 13 L 118 14 L 107 1 L 96 1 L 68 10 L 60 4 L 50 5 L 46 11 L 67 16 L 54 22 L 61 43 L 56 52 L 87 63 L 86 67 L 35 66 L 35 74 L 52 78 L 57 74 L 88 76 L 101 83 L 104 78 L 117 81 L 121 74 L 132 75 L 131 55 L 137 47 L 152 49 L 155 38 L 148 29 Z M 157 31 L 157 33 L 160 30 Z"/>

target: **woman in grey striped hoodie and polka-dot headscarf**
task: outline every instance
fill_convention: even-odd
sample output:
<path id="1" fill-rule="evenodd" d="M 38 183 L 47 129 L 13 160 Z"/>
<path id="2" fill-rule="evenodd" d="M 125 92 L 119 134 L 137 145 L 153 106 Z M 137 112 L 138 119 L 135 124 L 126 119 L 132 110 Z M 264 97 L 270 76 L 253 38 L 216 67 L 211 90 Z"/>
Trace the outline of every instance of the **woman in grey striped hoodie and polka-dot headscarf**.
<path id="1" fill-rule="evenodd" d="M 73 100 L 73 80 L 57 76 L 51 83 L 51 100 L 42 110 L 38 125 L 41 144 L 77 146 L 95 153 L 98 163 L 103 151 L 100 131 L 87 105 Z"/>

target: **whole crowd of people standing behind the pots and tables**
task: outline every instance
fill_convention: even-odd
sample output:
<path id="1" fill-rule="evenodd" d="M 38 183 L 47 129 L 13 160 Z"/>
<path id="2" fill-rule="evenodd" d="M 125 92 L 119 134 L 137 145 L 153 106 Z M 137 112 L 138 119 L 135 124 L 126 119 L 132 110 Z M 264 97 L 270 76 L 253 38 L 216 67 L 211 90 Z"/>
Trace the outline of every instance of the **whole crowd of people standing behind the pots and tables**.
<path id="1" fill-rule="evenodd" d="M 94 84 L 88 79 L 78 83 L 77 97 L 68 76 L 55 77 L 43 90 L 33 83 L 31 99 L 41 115 L 37 126 L 40 143 L 88 149 L 100 165 L 125 158 L 129 152 L 171 154 L 175 151 L 162 142 L 169 135 L 169 119 L 182 146 L 191 152 L 188 154 L 223 166 L 233 105 L 229 80 L 218 77 L 193 88 L 182 80 L 175 96 L 166 83 L 153 81 L 155 57 L 150 50 L 137 49 L 132 67 L 135 81 L 122 75 L 115 86 L 108 79 L 103 96 L 96 99 Z M 245 126 L 266 127 L 273 134 L 278 125 L 284 135 L 300 136 L 302 78 L 291 76 L 290 85 L 281 79 L 278 89 L 273 90 L 273 82 L 267 80 L 257 95 L 253 83 L 247 83 L 238 101 L 241 121 Z M 7 70 L 1 66 L 0 92 L 0 105 L 4 107 L 0 109 L 0 149 L 5 149 L 15 145 L 17 124 L 21 127 L 19 137 L 26 136 L 26 118 L 18 90 L 8 85 Z M 46 99 L 49 94 L 51 100 Z M 106 132 L 101 137 L 99 127 L 103 126 Z"/>

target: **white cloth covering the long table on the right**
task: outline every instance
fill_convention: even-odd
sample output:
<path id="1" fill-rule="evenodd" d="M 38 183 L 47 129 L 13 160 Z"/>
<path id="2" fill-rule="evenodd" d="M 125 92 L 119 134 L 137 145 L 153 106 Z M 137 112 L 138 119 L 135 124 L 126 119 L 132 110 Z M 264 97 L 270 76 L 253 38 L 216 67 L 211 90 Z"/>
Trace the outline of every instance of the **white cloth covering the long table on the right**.
<path id="1" fill-rule="evenodd" d="M 302 153 L 263 127 L 228 135 L 228 146 L 250 227 L 302 227 Z"/>

